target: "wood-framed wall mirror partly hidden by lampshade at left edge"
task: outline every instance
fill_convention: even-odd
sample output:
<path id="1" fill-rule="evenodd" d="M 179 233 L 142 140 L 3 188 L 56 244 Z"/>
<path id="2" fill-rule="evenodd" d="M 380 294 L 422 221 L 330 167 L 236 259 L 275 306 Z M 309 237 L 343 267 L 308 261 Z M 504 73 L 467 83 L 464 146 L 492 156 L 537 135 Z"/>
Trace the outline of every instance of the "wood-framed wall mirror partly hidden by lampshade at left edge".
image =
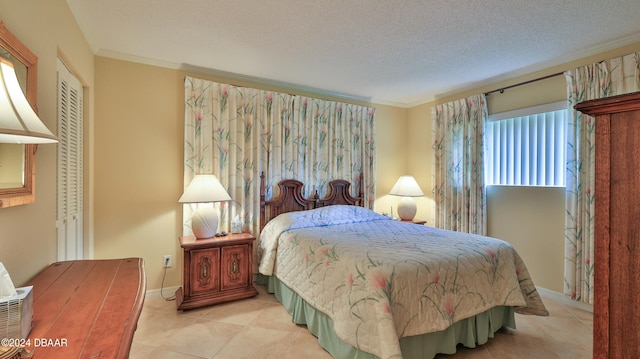
<path id="1" fill-rule="evenodd" d="M 13 66 L 27 100 L 36 108 L 38 58 L 0 20 L 0 56 Z M 0 144 L 0 208 L 35 201 L 37 145 Z"/>

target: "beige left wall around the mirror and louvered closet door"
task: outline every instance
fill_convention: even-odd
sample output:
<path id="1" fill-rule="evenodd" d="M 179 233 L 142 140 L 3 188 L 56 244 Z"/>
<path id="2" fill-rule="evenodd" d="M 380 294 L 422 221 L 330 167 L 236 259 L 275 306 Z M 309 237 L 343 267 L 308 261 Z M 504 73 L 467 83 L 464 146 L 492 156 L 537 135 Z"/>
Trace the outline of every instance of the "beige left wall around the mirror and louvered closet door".
<path id="1" fill-rule="evenodd" d="M 65 0 L 0 0 L 0 20 L 38 57 L 38 111 L 54 133 L 56 58 L 65 59 L 87 88 L 91 128 L 93 52 Z M 0 210 L 0 261 L 16 285 L 56 261 L 56 145 L 38 146 L 36 202 Z M 90 226 L 90 224 L 87 224 Z"/>

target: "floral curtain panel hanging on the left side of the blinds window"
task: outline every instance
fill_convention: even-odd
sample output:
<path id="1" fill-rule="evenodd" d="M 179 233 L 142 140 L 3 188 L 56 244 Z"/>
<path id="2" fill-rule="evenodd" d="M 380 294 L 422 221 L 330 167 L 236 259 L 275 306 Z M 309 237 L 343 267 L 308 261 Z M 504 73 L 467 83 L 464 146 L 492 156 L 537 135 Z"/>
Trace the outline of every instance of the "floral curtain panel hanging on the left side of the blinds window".
<path id="1" fill-rule="evenodd" d="M 483 94 L 436 106 L 436 227 L 486 235 Z"/>

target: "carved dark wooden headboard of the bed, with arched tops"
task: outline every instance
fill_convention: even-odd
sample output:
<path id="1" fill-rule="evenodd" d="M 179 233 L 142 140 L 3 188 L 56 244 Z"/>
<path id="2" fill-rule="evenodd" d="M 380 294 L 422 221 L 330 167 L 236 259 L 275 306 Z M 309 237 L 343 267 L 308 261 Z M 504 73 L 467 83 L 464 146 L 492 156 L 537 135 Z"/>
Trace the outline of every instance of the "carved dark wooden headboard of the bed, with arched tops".
<path id="1" fill-rule="evenodd" d="M 334 204 L 346 204 L 350 206 L 364 206 L 364 193 L 362 191 L 362 174 L 359 176 L 358 197 L 349 193 L 351 183 L 347 180 L 333 180 L 329 182 L 329 191 L 324 198 L 319 198 L 318 191 L 310 198 L 302 195 L 302 182 L 295 179 L 286 179 L 278 182 L 280 193 L 277 197 L 265 201 L 264 173 L 260 175 L 260 230 L 271 219 L 281 213 L 306 211 L 309 209 L 331 206 Z"/>

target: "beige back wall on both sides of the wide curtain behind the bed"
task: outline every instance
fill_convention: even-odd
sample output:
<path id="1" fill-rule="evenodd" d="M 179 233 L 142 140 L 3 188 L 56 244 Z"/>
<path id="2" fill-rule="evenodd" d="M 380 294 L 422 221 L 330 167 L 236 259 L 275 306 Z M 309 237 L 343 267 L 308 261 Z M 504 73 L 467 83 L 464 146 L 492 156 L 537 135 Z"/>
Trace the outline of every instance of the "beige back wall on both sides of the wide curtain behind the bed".
<path id="1" fill-rule="evenodd" d="M 162 257 L 171 254 L 164 286 L 179 285 L 184 77 L 229 80 L 100 56 L 95 67 L 95 257 L 142 257 L 147 286 L 156 289 Z M 378 193 L 387 193 L 407 171 L 406 110 L 377 105 L 376 118 L 376 183 Z"/>

